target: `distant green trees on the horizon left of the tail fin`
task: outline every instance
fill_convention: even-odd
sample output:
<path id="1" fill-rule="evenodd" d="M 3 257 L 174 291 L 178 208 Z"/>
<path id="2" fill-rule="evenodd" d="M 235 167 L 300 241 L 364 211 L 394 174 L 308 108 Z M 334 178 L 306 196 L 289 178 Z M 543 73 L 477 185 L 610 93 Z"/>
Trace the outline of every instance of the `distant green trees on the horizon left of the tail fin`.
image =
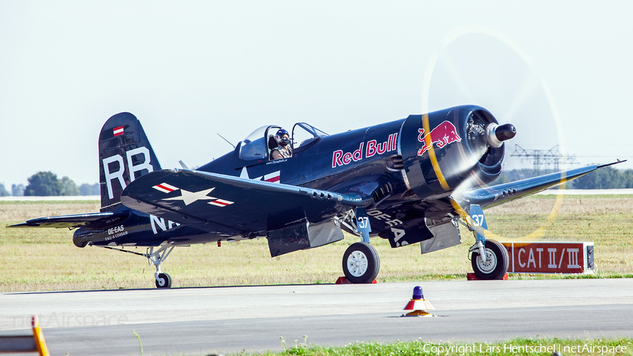
<path id="1" fill-rule="evenodd" d="M 0 183 L 0 196 L 98 196 L 98 183 L 77 186 L 69 177 L 58 179 L 53 172 L 37 172 L 27 179 L 29 184 L 13 184 L 11 193 Z"/>

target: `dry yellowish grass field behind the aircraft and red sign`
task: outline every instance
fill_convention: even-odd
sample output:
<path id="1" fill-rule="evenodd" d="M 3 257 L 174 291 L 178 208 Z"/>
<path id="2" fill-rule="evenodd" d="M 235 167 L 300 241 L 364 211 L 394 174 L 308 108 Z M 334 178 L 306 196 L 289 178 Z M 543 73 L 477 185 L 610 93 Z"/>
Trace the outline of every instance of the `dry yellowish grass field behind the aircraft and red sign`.
<path id="1" fill-rule="evenodd" d="M 103 248 L 77 248 L 68 229 L 7 229 L 34 217 L 98 211 L 98 202 L 0 202 L 0 292 L 153 288 L 145 258 Z M 593 241 L 598 276 L 633 273 L 633 196 L 532 196 L 486 211 L 490 237 L 501 241 Z M 535 232 L 536 231 L 536 232 Z M 421 255 L 419 246 L 392 249 L 372 239 L 381 257 L 378 281 L 465 279 L 468 247 Z M 162 265 L 174 287 L 333 283 L 342 276 L 343 241 L 270 258 L 267 240 L 176 248 Z M 145 252 L 144 248 L 136 249 Z M 550 276 L 551 277 L 551 276 Z M 555 276 L 556 277 L 556 276 Z M 512 276 L 511 278 L 529 278 Z"/>

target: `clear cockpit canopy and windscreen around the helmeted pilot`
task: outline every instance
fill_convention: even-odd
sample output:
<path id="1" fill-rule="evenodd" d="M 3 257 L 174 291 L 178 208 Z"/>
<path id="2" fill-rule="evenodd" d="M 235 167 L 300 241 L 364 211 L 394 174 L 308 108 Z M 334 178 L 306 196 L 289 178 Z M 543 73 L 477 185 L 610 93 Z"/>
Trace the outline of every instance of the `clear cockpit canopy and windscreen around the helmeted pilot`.
<path id="1" fill-rule="evenodd" d="M 268 160 L 271 149 L 276 147 L 274 136 L 279 129 L 281 126 L 266 125 L 246 136 L 240 143 L 240 159 L 248 161 Z M 293 152 L 298 153 L 307 149 L 323 136 L 328 136 L 328 134 L 305 122 L 296 123 L 290 137 Z"/>

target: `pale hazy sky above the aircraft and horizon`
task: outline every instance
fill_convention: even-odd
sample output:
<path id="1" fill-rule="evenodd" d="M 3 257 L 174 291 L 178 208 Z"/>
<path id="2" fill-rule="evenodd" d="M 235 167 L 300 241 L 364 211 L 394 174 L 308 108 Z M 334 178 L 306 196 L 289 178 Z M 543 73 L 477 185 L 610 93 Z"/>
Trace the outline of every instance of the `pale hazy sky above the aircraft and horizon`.
<path id="1" fill-rule="evenodd" d="M 633 1 L 0 0 L 0 182 L 98 182 L 99 131 L 122 111 L 165 168 L 229 151 L 217 133 L 332 134 L 465 103 L 516 125 L 506 168 L 515 144 L 631 160 L 632 15 Z"/>

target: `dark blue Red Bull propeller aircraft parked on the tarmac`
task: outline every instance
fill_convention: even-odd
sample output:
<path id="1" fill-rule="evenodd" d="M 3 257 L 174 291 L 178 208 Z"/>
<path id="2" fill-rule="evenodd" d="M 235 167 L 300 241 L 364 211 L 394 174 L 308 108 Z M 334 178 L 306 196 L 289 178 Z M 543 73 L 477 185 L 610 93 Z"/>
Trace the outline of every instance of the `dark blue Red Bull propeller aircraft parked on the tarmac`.
<path id="1" fill-rule="evenodd" d="M 352 283 L 370 283 L 380 260 L 371 236 L 392 248 L 420 243 L 430 253 L 461 243 L 458 222 L 474 231 L 470 248 L 480 279 L 500 279 L 509 257 L 485 239 L 483 208 L 580 177 L 589 166 L 487 186 L 501 172 L 499 125 L 479 106 L 456 106 L 328 135 L 305 122 L 290 132 L 293 153 L 271 159 L 278 126 L 263 126 L 229 153 L 196 170 L 162 170 L 130 113 L 110 117 L 99 136 L 101 212 L 41 217 L 11 227 L 68 227 L 78 247 L 142 255 L 155 265 L 155 284 L 175 246 L 266 237 L 272 257 L 360 237 L 343 255 Z M 146 247 L 146 253 L 125 249 Z"/>

